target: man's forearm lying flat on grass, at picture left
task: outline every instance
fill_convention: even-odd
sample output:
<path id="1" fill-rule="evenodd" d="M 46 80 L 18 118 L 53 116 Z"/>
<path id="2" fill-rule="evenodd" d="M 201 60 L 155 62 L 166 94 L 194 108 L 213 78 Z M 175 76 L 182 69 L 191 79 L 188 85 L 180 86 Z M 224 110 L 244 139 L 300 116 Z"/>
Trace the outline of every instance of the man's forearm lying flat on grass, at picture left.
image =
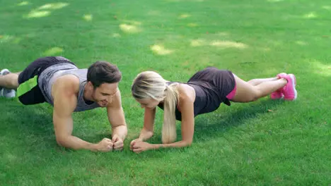
<path id="1" fill-rule="evenodd" d="M 97 144 L 86 142 L 84 140 L 81 140 L 79 137 L 75 137 L 72 135 L 57 139 L 57 143 L 62 147 L 75 149 L 75 150 L 88 149 L 91 151 L 98 151 L 98 149 L 96 148 Z"/>

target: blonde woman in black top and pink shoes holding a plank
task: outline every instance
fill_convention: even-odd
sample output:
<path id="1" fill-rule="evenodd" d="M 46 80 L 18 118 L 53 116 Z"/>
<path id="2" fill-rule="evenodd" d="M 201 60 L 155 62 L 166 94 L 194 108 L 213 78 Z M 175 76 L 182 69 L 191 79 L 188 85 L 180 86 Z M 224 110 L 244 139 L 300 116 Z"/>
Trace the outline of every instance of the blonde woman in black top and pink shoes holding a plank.
<path id="1" fill-rule="evenodd" d="M 256 101 L 271 94 L 272 99 L 295 100 L 296 78 L 280 73 L 277 77 L 241 80 L 229 70 L 209 67 L 195 73 L 187 83 L 169 82 L 161 75 L 146 71 L 137 75 L 132 85 L 132 96 L 145 109 L 144 128 L 130 149 L 136 153 L 160 147 L 186 147 L 192 143 L 194 117 L 215 111 L 223 102 Z M 164 109 L 162 142 L 144 142 L 153 135 L 156 106 Z M 182 140 L 176 140 L 175 120 L 181 120 Z"/>

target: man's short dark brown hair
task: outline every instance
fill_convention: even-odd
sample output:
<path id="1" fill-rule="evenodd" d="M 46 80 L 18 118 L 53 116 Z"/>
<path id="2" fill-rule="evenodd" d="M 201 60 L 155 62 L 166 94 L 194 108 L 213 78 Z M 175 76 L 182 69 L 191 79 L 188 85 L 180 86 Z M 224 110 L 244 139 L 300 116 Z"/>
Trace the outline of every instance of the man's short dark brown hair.
<path id="1" fill-rule="evenodd" d="M 96 61 L 88 68 L 87 80 L 92 82 L 93 87 L 99 87 L 103 83 L 120 82 L 122 73 L 117 66 L 107 61 Z"/>

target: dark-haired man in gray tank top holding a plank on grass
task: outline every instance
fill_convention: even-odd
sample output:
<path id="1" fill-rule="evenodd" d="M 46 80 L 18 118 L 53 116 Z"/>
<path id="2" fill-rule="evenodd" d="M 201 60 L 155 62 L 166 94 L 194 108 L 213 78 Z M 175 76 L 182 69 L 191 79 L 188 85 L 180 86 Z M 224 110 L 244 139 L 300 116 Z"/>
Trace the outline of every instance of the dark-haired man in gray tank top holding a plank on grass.
<path id="1" fill-rule="evenodd" d="M 123 148 L 127 125 L 121 103 L 118 83 L 122 73 L 117 66 L 97 61 L 88 69 L 79 69 L 68 59 L 57 57 L 38 58 L 21 73 L 1 70 L 0 96 L 15 97 L 22 104 L 48 102 L 54 106 L 53 124 L 57 143 L 71 149 L 111 151 Z M 75 111 L 106 107 L 112 126 L 112 140 L 104 138 L 92 144 L 71 135 Z"/>

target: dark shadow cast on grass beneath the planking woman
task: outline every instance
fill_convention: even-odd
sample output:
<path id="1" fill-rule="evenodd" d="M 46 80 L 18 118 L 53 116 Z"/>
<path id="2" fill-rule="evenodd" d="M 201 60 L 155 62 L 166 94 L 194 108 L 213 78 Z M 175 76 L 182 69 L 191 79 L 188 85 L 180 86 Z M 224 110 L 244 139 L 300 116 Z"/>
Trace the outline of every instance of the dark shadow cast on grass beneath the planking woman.
<path id="1" fill-rule="evenodd" d="M 197 142 L 206 142 L 208 140 L 212 140 L 217 137 L 222 137 L 226 131 L 231 128 L 236 128 L 239 125 L 242 125 L 247 120 L 252 120 L 258 118 L 260 114 L 269 113 L 273 109 L 276 109 L 277 105 L 282 104 L 284 101 L 282 100 L 271 100 L 271 99 L 262 99 L 261 101 L 252 102 L 246 104 L 245 106 L 240 106 L 240 109 L 233 108 L 235 111 L 231 111 L 231 107 L 236 107 L 237 104 L 240 103 L 231 103 L 231 107 L 221 108 L 224 106 L 223 104 L 219 109 L 222 109 L 221 113 L 219 111 L 214 113 L 207 113 L 204 115 L 200 115 L 195 118 L 194 125 L 194 140 L 193 144 Z M 226 111 L 230 110 L 228 113 Z M 177 130 L 177 140 L 181 140 L 181 129 L 180 125 L 178 125 Z M 153 137 L 151 137 L 148 142 L 152 144 L 161 144 L 161 133 L 154 133 Z M 180 148 L 180 149 L 159 149 L 153 151 L 152 153 L 145 153 L 144 157 L 156 156 L 153 154 L 155 152 L 160 152 L 158 156 L 165 156 L 166 152 L 175 152 L 175 151 L 187 151 L 190 147 Z M 161 153 L 163 152 L 163 154 Z"/>

